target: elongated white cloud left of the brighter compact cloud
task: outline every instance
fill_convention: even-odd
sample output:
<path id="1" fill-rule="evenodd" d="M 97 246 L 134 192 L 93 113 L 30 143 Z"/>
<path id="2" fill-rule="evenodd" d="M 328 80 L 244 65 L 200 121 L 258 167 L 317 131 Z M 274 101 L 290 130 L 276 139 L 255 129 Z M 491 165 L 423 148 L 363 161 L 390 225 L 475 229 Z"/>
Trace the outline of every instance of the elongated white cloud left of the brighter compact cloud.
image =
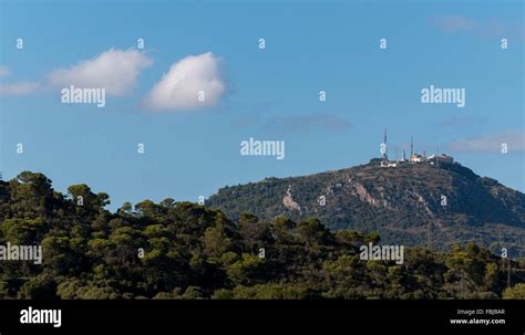
<path id="1" fill-rule="evenodd" d="M 152 63 L 136 50 L 110 49 L 69 69 L 54 70 L 49 83 L 55 87 L 105 88 L 107 95 L 121 96 L 130 93 L 141 70 Z"/>

